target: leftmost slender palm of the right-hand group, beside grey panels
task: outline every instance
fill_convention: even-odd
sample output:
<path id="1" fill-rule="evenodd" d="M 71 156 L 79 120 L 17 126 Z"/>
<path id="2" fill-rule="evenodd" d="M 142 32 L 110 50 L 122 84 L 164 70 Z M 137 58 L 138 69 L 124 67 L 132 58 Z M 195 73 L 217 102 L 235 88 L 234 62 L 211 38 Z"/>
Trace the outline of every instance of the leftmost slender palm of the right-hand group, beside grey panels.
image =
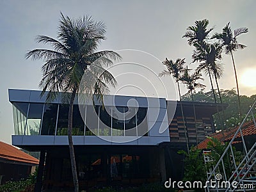
<path id="1" fill-rule="evenodd" d="M 162 77 L 162 76 L 173 76 L 175 78 L 175 81 L 176 81 L 177 85 L 178 85 L 179 97 L 180 97 L 180 109 L 181 109 L 182 120 L 183 120 L 183 124 L 184 124 L 187 150 L 188 150 L 188 153 L 189 153 L 188 131 L 186 129 L 186 124 L 185 124 L 184 112 L 183 112 L 182 102 L 181 102 L 180 84 L 179 84 L 180 76 L 181 76 L 182 72 L 184 72 L 184 67 L 183 66 L 184 66 L 185 63 L 186 63 L 185 58 L 184 59 L 178 58 L 175 62 L 173 60 L 168 60 L 168 58 L 166 58 L 163 61 L 163 64 L 167 67 L 167 70 L 163 70 L 163 72 L 161 72 L 159 74 L 159 76 L 160 77 Z"/>

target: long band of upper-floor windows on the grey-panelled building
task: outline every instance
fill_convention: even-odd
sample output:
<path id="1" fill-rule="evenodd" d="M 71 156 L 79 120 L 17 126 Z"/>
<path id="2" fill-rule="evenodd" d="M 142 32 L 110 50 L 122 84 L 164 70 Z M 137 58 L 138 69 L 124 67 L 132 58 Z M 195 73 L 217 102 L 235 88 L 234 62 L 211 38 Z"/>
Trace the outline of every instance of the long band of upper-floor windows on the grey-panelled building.
<path id="1" fill-rule="evenodd" d="M 68 104 L 13 102 L 13 122 L 16 135 L 65 136 Z M 74 104 L 74 136 L 147 136 L 147 131 L 147 108 Z"/>

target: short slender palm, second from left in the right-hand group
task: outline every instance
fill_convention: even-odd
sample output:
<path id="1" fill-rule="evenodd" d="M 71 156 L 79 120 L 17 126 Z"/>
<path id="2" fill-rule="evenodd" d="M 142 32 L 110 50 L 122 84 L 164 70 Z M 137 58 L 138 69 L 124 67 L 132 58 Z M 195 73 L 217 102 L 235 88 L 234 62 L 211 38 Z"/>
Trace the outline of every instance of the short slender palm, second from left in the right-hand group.
<path id="1" fill-rule="evenodd" d="M 195 109 L 195 102 L 193 97 L 193 92 L 195 92 L 196 88 L 205 88 L 204 84 L 198 83 L 198 80 L 204 80 L 202 78 L 202 74 L 198 71 L 194 72 L 193 74 L 189 74 L 188 67 L 185 68 L 184 74 L 182 77 L 180 77 L 180 81 L 182 81 L 183 84 L 186 85 L 188 88 L 188 93 L 191 94 L 191 100 L 193 103 L 193 111 L 194 111 L 194 118 L 195 118 L 195 133 L 196 133 L 196 145 L 198 144 L 198 135 L 197 135 L 197 128 L 196 128 L 196 109 Z"/>

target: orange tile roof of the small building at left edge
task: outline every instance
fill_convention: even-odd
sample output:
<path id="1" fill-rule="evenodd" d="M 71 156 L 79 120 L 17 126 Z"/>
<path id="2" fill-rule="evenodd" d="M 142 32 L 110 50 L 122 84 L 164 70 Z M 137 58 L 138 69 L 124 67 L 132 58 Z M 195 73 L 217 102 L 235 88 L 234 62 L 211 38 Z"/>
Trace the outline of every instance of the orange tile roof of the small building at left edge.
<path id="1" fill-rule="evenodd" d="M 9 161 L 17 161 L 20 163 L 39 164 L 39 160 L 35 157 L 29 156 L 18 148 L 13 147 L 7 143 L 0 141 L 0 159 Z"/>

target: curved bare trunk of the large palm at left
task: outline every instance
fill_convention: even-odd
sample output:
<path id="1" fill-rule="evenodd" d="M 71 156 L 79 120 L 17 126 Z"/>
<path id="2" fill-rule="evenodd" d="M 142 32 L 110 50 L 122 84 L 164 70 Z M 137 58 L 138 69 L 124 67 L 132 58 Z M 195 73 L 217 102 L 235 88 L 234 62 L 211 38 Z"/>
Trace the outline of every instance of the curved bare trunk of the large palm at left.
<path id="1" fill-rule="evenodd" d="M 76 96 L 76 88 L 74 88 L 70 103 L 69 103 L 69 109 L 68 109 L 68 147 L 70 152 L 70 161 L 71 161 L 71 168 L 72 168 L 72 176 L 73 176 L 73 182 L 74 182 L 74 191 L 79 191 L 79 184 L 77 179 L 77 172 L 76 172 L 76 159 L 75 159 L 75 152 L 74 152 L 74 146 L 73 146 L 73 139 L 72 139 L 72 123 L 73 123 L 73 106 L 74 106 L 74 100 Z"/>

